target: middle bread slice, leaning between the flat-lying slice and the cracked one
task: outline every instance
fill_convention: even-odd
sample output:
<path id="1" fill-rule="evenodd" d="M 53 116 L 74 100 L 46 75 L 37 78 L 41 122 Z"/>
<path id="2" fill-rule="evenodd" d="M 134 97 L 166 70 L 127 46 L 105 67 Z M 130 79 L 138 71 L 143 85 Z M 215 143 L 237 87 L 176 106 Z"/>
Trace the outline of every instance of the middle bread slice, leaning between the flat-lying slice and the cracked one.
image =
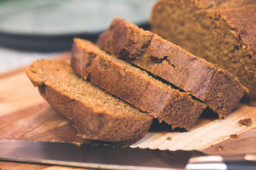
<path id="1" fill-rule="evenodd" d="M 150 113 L 159 122 L 189 130 L 206 105 L 175 90 L 145 71 L 116 59 L 97 45 L 79 38 L 72 47 L 72 68 L 102 89 Z"/>

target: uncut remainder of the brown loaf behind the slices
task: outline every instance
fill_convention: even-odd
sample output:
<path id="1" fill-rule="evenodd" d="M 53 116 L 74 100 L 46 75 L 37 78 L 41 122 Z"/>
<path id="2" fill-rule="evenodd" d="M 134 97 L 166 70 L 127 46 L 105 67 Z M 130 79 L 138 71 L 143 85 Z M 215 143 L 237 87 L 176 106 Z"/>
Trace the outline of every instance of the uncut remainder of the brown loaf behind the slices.
<path id="1" fill-rule="evenodd" d="M 160 0 L 151 31 L 238 77 L 256 105 L 256 0 Z"/>

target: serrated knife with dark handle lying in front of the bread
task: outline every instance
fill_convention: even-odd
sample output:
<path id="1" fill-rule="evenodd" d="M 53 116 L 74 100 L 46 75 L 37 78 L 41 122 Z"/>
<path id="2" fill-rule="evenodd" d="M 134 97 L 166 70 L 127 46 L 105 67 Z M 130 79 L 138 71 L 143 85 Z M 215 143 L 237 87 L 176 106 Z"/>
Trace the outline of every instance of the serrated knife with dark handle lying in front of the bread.
<path id="1" fill-rule="evenodd" d="M 0 140 L 0 160 L 108 170 L 256 170 L 256 155 Z"/>

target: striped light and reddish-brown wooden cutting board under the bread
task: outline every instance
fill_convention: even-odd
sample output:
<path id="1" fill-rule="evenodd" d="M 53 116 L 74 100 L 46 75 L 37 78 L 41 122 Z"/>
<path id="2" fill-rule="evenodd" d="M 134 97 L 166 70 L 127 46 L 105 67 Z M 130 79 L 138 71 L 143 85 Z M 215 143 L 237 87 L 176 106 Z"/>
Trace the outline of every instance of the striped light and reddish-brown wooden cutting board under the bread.
<path id="1" fill-rule="evenodd" d="M 70 53 L 62 53 L 53 58 L 68 58 Z M 70 123 L 56 112 L 33 87 L 25 68 L 0 75 L 0 140 L 34 140 L 91 143 L 77 137 Z M 239 126 L 238 121 L 252 118 L 251 126 Z M 161 150 L 202 150 L 209 154 L 256 154 L 256 107 L 239 104 L 223 120 L 210 110 L 205 110 L 195 126 L 189 131 L 171 130 L 157 121 L 149 133 L 132 148 Z M 237 134 L 238 138 L 230 138 Z M 167 140 L 169 137 L 170 140 Z M 217 149 L 221 146 L 221 150 Z M 0 162 L 2 170 L 74 170 L 59 166 L 26 163 Z"/>

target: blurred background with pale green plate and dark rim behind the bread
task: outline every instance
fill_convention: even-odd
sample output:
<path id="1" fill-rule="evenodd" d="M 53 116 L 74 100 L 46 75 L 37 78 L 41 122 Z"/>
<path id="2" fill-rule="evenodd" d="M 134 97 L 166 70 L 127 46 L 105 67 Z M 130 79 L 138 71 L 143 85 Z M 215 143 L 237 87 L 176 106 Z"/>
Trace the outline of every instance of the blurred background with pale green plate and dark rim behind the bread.
<path id="1" fill-rule="evenodd" d="M 95 42 L 114 17 L 149 29 L 157 0 L 0 0 L 0 73 Z"/>

